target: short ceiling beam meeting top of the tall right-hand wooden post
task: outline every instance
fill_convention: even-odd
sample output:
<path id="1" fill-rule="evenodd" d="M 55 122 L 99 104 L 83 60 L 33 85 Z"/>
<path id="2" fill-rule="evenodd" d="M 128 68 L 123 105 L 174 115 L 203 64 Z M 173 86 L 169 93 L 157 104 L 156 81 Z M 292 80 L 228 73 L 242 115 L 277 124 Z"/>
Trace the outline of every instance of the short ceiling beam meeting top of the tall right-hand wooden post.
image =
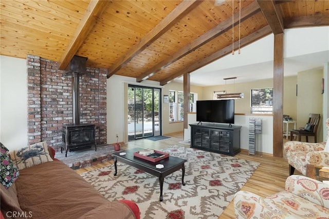
<path id="1" fill-rule="evenodd" d="M 257 0 L 257 2 L 273 34 L 283 33 L 283 19 L 279 6 L 272 0 Z"/>

